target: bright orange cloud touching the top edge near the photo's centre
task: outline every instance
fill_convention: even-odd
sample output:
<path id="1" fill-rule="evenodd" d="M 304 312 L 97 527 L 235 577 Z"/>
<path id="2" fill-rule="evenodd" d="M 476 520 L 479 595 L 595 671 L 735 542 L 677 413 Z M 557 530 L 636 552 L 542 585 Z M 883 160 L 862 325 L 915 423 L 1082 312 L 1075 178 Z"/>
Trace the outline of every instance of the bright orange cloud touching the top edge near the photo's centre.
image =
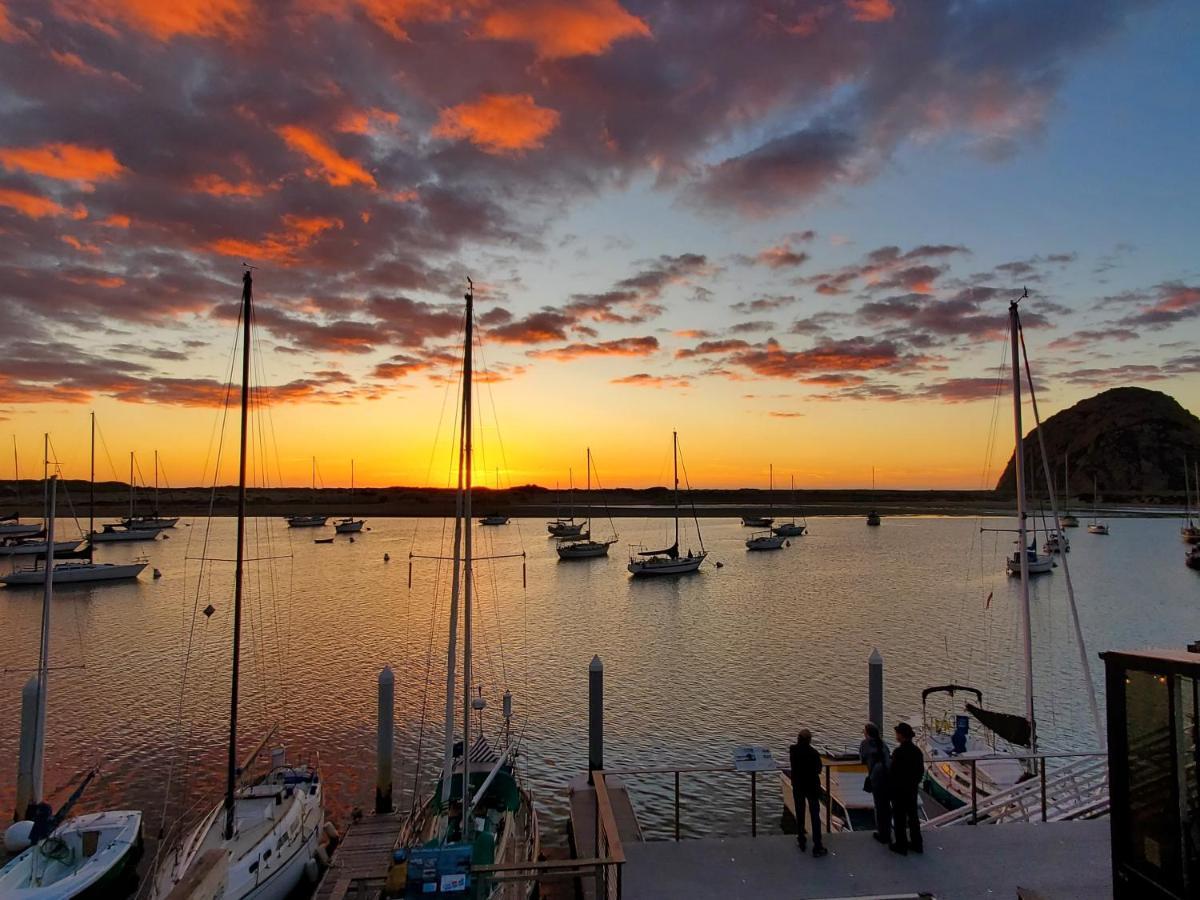
<path id="1" fill-rule="evenodd" d="M 649 37 L 650 28 L 617 0 L 530 0 L 487 14 L 482 34 L 532 43 L 541 59 L 599 56 L 617 41 Z"/>

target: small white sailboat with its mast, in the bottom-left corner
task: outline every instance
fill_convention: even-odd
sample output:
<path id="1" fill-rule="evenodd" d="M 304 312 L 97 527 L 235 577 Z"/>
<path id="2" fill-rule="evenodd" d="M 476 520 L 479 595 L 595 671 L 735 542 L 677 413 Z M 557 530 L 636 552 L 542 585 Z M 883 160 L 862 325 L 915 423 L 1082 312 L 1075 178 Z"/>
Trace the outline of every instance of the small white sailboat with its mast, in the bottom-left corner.
<path id="1" fill-rule="evenodd" d="M 46 530 L 54 546 L 54 506 L 58 475 L 47 485 Z M 47 554 L 54 568 L 54 551 Z M 22 821 L 5 833 L 5 845 L 22 852 L 0 869 L 0 896 L 22 900 L 66 900 L 79 896 L 122 896 L 128 886 L 120 877 L 137 864 L 142 853 L 142 814 L 137 810 L 92 812 L 67 818 L 95 772 L 72 792 L 58 812 L 42 797 L 42 756 L 46 746 L 46 704 L 50 674 L 50 608 L 54 582 L 42 572 L 42 643 L 37 660 L 37 703 L 34 712 L 29 755 L 22 754 L 17 781 Z M 25 725 L 29 725 L 26 722 Z M 24 734 L 22 746 L 25 746 Z M 28 768 L 26 768 L 28 767 Z M 28 793 L 26 793 L 28 792 Z M 23 846 L 24 845 L 24 846 Z M 112 894 L 109 893 L 112 892 Z"/>

